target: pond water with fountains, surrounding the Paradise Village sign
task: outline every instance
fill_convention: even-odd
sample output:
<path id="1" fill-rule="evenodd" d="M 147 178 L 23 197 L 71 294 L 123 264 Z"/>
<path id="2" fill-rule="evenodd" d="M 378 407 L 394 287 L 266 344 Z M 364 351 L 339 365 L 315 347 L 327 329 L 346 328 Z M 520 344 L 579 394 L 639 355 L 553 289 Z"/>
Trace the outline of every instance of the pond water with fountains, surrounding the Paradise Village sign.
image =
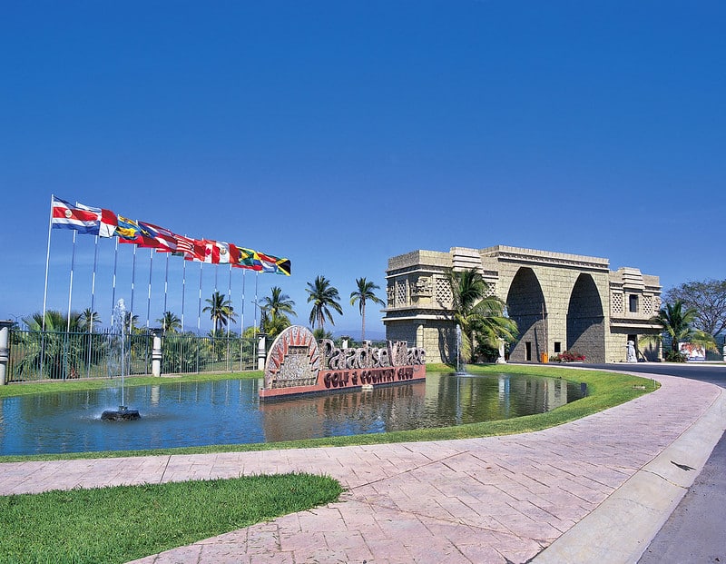
<path id="1" fill-rule="evenodd" d="M 259 401 L 261 380 L 163 381 L 125 390 L 140 421 L 101 421 L 121 391 L 0 401 L 0 455 L 274 442 L 493 421 L 553 410 L 580 387 L 515 374 L 428 372 L 425 382 Z M 110 384 L 111 386 L 111 384 Z"/>

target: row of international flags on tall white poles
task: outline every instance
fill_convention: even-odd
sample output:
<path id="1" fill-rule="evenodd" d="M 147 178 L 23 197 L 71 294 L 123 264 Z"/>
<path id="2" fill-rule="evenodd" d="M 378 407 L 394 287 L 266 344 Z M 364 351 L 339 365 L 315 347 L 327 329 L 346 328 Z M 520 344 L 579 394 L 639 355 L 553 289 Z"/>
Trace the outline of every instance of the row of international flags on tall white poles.
<path id="1" fill-rule="evenodd" d="M 154 252 L 163 252 L 166 255 L 166 277 L 164 280 L 164 314 L 167 312 L 167 284 L 169 272 L 169 256 L 180 256 L 185 261 L 200 263 L 200 287 L 199 307 L 197 313 L 197 331 L 200 331 L 201 323 L 201 266 L 204 263 L 228 264 L 230 268 L 229 292 L 231 298 L 231 272 L 232 268 L 243 269 L 242 277 L 242 310 L 240 334 L 244 330 L 244 273 L 251 270 L 260 272 L 275 272 L 289 276 L 291 272 L 289 259 L 280 258 L 264 252 L 254 251 L 249 248 L 240 247 L 231 242 L 219 242 L 210 239 L 193 239 L 186 235 L 173 233 L 171 230 L 148 222 L 130 220 L 123 215 L 113 213 L 104 208 L 97 208 L 83 205 L 81 203 L 71 204 L 56 196 L 51 196 L 51 216 L 48 227 L 48 251 L 45 261 L 45 285 L 43 298 L 43 329 L 45 329 L 45 312 L 48 293 L 48 270 L 50 264 L 51 233 L 53 229 L 73 230 L 73 253 L 71 258 L 71 272 L 68 292 L 68 319 L 66 331 L 70 331 L 71 324 L 71 301 L 74 283 L 74 262 L 75 262 L 75 239 L 78 233 L 95 236 L 95 248 L 93 253 L 93 277 L 91 283 L 91 311 L 94 311 L 95 300 L 95 275 L 98 260 L 99 238 L 115 237 L 115 255 L 113 260 L 113 291 L 112 310 L 115 305 L 116 292 L 116 266 L 118 262 L 119 243 L 131 243 L 133 246 L 132 262 L 132 287 L 130 314 L 133 314 L 133 295 L 136 267 L 136 249 L 149 248 L 149 293 L 147 298 L 147 326 L 149 323 L 152 293 L 152 261 Z M 215 270 L 215 292 L 216 292 Z M 257 304 L 257 277 L 255 278 L 255 300 Z M 186 262 L 183 263 L 182 287 L 186 286 Z M 91 320 L 93 323 L 93 319 Z M 184 325 L 184 292 L 182 290 L 182 330 Z M 257 307 L 255 307 L 255 327 L 257 327 Z M 230 327 L 227 326 L 229 335 Z"/>

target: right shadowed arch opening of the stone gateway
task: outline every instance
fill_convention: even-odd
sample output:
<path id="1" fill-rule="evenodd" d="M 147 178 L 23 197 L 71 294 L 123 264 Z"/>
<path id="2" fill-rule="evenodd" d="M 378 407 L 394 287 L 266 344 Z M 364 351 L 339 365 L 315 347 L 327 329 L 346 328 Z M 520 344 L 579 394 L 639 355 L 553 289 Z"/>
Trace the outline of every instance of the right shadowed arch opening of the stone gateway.
<path id="1" fill-rule="evenodd" d="M 567 307 L 567 349 L 581 352 L 588 362 L 604 362 L 603 299 L 593 277 L 581 273 Z"/>

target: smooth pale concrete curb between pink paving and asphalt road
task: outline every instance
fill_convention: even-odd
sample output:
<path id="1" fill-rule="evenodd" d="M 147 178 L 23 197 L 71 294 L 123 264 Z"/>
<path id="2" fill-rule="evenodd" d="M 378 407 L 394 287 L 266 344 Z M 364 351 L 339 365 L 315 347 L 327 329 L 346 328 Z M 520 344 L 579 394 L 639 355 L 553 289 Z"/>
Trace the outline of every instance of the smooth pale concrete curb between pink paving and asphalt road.
<path id="1" fill-rule="evenodd" d="M 637 562 L 703 470 L 725 429 L 726 392 L 721 391 L 678 439 L 531 561 Z"/>

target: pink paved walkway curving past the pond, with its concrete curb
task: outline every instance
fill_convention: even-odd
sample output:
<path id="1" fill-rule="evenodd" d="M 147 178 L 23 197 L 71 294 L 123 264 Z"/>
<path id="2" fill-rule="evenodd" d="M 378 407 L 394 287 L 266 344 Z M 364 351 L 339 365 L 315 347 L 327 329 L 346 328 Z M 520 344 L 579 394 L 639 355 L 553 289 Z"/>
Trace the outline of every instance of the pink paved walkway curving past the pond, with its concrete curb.
<path id="1" fill-rule="evenodd" d="M 662 388 L 642 398 L 532 433 L 6 463 L 0 494 L 307 471 L 347 491 L 328 506 L 135 562 L 633 562 L 726 427 L 719 387 L 657 380 Z"/>

